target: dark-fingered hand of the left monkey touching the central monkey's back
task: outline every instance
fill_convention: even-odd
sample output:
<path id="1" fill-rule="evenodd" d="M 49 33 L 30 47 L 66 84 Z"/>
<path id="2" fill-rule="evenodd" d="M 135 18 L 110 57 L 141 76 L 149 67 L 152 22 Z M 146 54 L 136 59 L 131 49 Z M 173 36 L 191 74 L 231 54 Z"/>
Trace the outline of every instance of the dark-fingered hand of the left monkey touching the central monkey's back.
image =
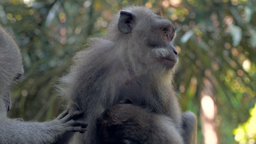
<path id="1" fill-rule="evenodd" d="M 84 121 L 77 120 L 82 117 L 83 113 L 80 110 L 74 111 L 72 113 L 69 110 L 62 112 L 54 121 L 58 121 L 65 127 L 66 132 L 80 132 L 84 133 L 86 131 L 86 124 Z"/>

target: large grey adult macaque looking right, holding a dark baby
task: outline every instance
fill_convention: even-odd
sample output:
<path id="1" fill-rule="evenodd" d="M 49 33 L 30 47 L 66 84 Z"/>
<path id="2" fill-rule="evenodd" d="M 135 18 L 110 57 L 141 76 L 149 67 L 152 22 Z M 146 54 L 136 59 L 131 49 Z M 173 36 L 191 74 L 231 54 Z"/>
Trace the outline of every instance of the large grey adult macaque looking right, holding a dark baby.
<path id="1" fill-rule="evenodd" d="M 182 115 L 172 86 L 178 62 L 172 44 L 175 30 L 170 20 L 153 10 L 128 6 L 115 16 L 104 37 L 90 39 L 89 47 L 76 54 L 69 74 L 62 78 L 68 110 L 84 112 L 88 131 L 65 136 L 62 142 L 72 136 L 74 144 L 100 144 L 96 119 L 118 101 L 130 99 L 136 106 L 168 116 L 184 143 L 196 144 L 196 116 Z"/>

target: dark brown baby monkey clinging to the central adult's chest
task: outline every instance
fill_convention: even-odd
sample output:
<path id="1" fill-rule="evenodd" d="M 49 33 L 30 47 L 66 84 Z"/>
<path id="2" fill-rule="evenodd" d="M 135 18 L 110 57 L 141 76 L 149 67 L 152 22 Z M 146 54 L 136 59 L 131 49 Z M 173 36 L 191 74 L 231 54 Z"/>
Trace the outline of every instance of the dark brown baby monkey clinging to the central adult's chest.
<path id="1" fill-rule="evenodd" d="M 171 118 L 122 100 L 97 119 L 97 131 L 106 144 L 183 144 Z"/>

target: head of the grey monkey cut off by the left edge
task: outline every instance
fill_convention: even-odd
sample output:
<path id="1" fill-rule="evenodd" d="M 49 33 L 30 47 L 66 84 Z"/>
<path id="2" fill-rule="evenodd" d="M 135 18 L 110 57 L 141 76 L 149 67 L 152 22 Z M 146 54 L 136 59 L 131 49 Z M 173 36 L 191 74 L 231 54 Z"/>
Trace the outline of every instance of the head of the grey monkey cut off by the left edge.
<path id="1" fill-rule="evenodd" d="M 4 114 L 10 110 L 10 86 L 24 74 L 22 55 L 12 35 L 0 26 L 0 107 Z M 1 112 L 0 112 L 1 113 Z"/>

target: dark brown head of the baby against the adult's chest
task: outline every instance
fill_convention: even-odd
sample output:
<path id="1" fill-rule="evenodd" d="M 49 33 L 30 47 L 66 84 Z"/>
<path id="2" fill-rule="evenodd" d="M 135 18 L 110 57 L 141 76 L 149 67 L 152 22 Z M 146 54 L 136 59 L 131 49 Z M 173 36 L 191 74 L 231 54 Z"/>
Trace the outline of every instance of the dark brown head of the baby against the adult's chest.
<path id="1" fill-rule="evenodd" d="M 147 113 L 142 108 L 128 99 L 121 100 L 97 119 L 97 132 L 110 144 L 140 144 L 140 140 L 146 138 L 142 128 L 147 127 L 144 116 L 147 118 Z"/>

